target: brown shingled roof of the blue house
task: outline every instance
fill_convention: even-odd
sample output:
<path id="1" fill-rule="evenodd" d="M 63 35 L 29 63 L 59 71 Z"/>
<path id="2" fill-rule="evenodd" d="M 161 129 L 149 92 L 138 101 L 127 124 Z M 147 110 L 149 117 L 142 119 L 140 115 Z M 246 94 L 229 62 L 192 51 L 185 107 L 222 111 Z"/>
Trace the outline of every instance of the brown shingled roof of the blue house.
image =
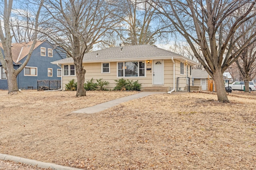
<path id="1" fill-rule="evenodd" d="M 37 41 L 34 49 L 41 45 L 44 41 Z M 30 46 L 33 44 L 33 41 L 28 43 L 12 43 L 12 60 L 14 63 L 19 63 L 24 57 L 26 57 L 30 51 Z M 3 49 L 2 43 L 0 47 Z"/>

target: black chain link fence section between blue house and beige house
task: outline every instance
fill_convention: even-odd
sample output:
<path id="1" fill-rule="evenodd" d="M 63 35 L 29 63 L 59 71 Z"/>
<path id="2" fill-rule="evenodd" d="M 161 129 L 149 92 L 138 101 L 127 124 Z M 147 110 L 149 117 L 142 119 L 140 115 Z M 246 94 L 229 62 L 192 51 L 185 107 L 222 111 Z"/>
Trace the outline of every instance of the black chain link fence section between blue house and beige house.
<path id="1" fill-rule="evenodd" d="M 58 90 L 61 89 L 61 80 L 37 80 L 37 90 Z"/>

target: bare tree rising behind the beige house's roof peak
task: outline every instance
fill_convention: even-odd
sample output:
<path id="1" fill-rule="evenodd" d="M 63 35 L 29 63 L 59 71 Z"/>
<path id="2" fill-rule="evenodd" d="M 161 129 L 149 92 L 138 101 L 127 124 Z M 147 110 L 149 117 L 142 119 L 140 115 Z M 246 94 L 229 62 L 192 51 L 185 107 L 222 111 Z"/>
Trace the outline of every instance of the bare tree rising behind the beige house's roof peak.
<path id="1" fill-rule="evenodd" d="M 124 45 L 153 45 L 156 39 L 167 37 L 170 25 L 163 23 L 145 1 L 120 0 L 120 8 L 123 15 L 119 15 L 122 22 L 117 32 Z"/>

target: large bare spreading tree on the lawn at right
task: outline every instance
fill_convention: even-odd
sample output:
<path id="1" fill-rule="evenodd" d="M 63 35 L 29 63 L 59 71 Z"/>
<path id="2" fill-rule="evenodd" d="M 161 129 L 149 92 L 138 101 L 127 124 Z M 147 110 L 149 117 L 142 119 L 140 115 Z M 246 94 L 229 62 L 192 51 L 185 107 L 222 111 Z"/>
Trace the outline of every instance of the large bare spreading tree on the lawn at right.
<path id="1" fill-rule="evenodd" d="M 147 1 L 149 4 L 154 2 L 157 12 L 171 21 L 176 31 L 186 39 L 195 57 L 214 79 L 218 100 L 229 102 L 223 73 L 255 41 L 256 30 L 252 26 L 243 33 L 238 31 L 242 23 L 255 17 L 255 0 Z M 228 23 L 232 23 L 232 27 L 228 27 Z M 249 31 L 252 32 L 251 37 L 237 49 L 237 42 Z M 195 43 L 200 46 L 204 59 L 196 50 Z"/>

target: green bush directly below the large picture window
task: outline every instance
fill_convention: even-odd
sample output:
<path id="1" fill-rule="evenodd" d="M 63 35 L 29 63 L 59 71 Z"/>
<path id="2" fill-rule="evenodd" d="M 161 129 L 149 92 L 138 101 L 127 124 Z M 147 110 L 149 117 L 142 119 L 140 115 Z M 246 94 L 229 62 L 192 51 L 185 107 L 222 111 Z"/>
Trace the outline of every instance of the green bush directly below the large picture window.
<path id="1" fill-rule="evenodd" d="M 124 80 L 123 78 L 119 80 L 114 80 L 116 82 L 116 86 L 113 90 L 138 90 L 140 91 L 141 84 L 138 83 L 138 80 L 135 82 L 133 80 Z"/>

